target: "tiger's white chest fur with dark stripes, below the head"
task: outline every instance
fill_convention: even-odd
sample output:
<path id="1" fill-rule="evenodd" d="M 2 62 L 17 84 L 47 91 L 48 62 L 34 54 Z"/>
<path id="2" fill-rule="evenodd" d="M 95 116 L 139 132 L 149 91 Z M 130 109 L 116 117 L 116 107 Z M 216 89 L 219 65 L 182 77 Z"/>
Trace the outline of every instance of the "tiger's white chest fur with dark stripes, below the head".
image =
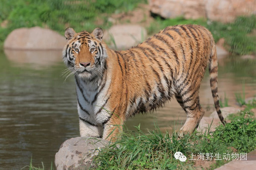
<path id="1" fill-rule="evenodd" d="M 91 82 L 76 78 L 79 117 L 94 124 L 102 124 L 110 117 L 108 112 L 111 78 L 103 77 Z"/>

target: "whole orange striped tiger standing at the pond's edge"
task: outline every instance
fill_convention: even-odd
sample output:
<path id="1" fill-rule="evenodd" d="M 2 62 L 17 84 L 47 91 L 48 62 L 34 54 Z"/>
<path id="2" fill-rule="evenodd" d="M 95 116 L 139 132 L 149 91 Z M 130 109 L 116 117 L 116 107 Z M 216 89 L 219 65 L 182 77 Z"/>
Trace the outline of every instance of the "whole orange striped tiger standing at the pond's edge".
<path id="1" fill-rule="evenodd" d="M 80 136 L 115 141 L 125 120 L 157 109 L 174 96 L 186 113 L 179 134 L 193 133 L 204 116 L 199 88 L 207 65 L 218 117 L 215 42 L 199 25 L 168 26 L 128 50 L 115 51 L 102 40 L 102 28 L 91 33 L 65 30 L 62 58 L 74 74 Z"/>

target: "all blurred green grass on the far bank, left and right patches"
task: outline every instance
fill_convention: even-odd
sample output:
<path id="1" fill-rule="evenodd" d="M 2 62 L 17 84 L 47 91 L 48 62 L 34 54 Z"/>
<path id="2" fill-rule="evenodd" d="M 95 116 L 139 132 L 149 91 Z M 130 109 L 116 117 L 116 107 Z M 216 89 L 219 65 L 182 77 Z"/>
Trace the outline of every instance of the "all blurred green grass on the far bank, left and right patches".
<path id="1" fill-rule="evenodd" d="M 99 26 L 109 28 L 110 14 L 131 11 L 147 0 L 0 0 L 0 23 L 8 21 L 6 28 L 0 27 L 0 46 L 6 36 L 20 27 L 41 26 L 63 34 L 65 28 L 92 31 Z M 146 20 L 146 18 L 145 18 Z M 225 39 L 224 46 L 233 54 L 256 54 L 256 16 L 239 17 L 234 23 L 209 22 L 205 19 L 186 20 L 183 17 L 163 20 L 156 17 L 148 26 L 154 34 L 166 26 L 177 24 L 199 24 L 207 27 L 215 41 Z"/>

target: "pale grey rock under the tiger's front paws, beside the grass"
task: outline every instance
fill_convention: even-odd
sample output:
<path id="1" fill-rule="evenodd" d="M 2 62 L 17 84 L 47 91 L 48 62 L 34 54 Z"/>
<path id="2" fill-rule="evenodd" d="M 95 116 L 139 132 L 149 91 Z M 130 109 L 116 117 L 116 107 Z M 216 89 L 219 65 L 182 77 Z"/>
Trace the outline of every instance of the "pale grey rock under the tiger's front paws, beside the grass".
<path id="1" fill-rule="evenodd" d="M 76 137 L 66 140 L 55 154 L 57 170 L 87 170 L 93 167 L 93 156 L 109 144 L 100 138 Z"/>

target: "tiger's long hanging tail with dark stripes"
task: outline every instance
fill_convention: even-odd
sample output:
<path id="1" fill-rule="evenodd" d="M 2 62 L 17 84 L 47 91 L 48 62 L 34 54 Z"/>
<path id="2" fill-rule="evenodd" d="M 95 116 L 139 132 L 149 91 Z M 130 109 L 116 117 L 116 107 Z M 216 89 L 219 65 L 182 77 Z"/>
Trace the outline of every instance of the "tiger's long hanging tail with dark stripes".
<path id="1" fill-rule="evenodd" d="M 212 50 L 211 50 L 211 55 L 210 55 L 210 62 L 209 62 L 209 74 L 210 74 L 210 85 L 212 89 L 212 97 L 214 100 L 214 106 L 215 109 L 218 113 L 218 117 L 220 118 L 221 122 L 223 125 L 226 124 L 226 121 L 224 120 L 222 114 L 221 114 L 221 109 L 220 109 L 220 104 L 219 104 L 219 97 L 218 97 L 218 59 L 217 59 L 217 52 L 215 48 L 215 43 L 212 43 Z"/>

